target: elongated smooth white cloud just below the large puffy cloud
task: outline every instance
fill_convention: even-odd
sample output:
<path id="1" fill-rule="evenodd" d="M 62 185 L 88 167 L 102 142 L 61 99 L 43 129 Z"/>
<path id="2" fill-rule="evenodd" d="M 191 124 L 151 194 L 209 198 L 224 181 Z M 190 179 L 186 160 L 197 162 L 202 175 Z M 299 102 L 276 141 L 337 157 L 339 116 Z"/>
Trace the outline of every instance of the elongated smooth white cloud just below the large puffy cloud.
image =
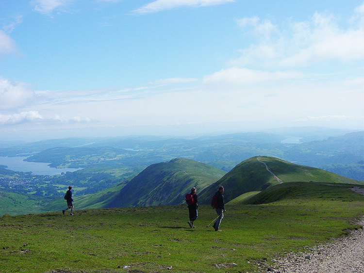
<path id="1" fill-rule="evenodd" d="M 205 76 L 203 83 L 252 84 L 266 81 L 301 79 L 303 73 L 297 71 L 259 71 L 247 68 L 232 67 L 222 69 L 212 75 Z"/>

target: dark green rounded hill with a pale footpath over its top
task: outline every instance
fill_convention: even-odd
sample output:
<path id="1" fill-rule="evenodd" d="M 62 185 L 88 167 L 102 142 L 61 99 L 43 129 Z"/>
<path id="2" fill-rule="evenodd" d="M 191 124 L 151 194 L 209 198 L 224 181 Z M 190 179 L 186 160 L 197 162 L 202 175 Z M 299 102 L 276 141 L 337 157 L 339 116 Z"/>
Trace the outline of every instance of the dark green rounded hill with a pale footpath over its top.
<path id="1" fill-rule="evenodd" d="M 274 177 L 273 174 L 276 176 Z M 364 184 L 317 168 L 301 166 L 272 157 L 253 157 L 241 162 L 200 194 L 200 202 L 208 204 L 219 185 L 225 188 L 226 202 L 248 192 L 260 192 L 272 185 L 294 181 Z"/>

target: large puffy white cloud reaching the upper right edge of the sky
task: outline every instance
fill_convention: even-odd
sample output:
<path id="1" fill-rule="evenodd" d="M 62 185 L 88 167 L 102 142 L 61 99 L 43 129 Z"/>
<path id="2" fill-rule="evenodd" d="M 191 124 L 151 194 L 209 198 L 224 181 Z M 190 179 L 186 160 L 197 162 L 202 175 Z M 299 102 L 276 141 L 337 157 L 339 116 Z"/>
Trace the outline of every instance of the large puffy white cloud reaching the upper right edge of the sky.
<path id="1" fill-rule="evenodd" d="M 357 10 L 363 9 L 357 8 Z M 358 17 L 360 14 L 360 17 Z M 258 43 L 241 50 L 242 56 L 233 66 L 299 67 L 327 60 L 348 62 L 364 58 L 363 14 L 356 12 L 349 27 L 339 27 L 332 15 L 315 13 L 310 21 L 274 26 L 258 17 L 237 20 L 242 28 L 253 27 Z"/>

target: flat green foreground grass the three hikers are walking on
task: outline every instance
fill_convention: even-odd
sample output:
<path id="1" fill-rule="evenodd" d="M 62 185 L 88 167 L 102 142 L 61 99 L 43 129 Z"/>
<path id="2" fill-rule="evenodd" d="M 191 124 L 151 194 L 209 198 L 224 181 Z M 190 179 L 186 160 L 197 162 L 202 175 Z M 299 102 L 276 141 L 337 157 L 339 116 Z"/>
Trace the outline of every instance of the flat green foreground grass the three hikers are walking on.
<path id="1" fill-rule="evenodd" d="M 302 251 L 357 227 L 364 196 L 294 199 L 232 205 L 223 232 L 199 207 L 189 228 L 186 206 L 85 209 L 0 217 L 2 273 L 232 273 L 265 272 L 285 252 Z M 124 269 L 124 266 L 130 266 Z"/>

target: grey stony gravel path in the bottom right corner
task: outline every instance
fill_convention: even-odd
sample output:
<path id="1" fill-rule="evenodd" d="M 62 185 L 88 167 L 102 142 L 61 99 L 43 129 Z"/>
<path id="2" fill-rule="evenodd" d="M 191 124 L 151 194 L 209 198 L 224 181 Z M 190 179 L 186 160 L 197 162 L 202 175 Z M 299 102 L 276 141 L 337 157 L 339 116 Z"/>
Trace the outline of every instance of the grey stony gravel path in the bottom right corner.
<path id="1" fill-rule="evenodd" d="M 364 226 L 364 218 L 358 224 Z M 364 229 L 274 262 L 267 273 L 364 273 Z"/>

